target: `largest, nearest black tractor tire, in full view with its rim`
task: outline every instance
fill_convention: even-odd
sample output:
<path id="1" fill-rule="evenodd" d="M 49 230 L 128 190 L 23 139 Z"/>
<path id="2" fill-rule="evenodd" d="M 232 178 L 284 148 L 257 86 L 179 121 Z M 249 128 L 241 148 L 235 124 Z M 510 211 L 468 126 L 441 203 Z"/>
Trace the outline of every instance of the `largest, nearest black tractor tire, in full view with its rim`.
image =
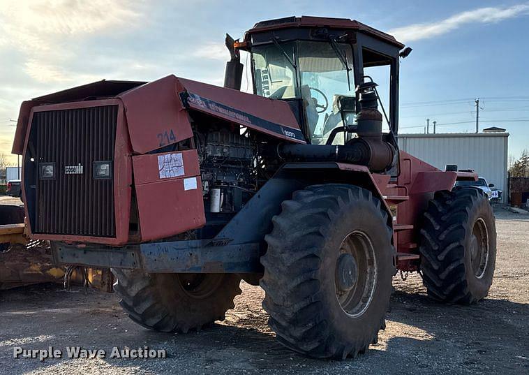
<path id="1" fill-rule="evenodd" d="M 315 358 L 364 353 L 385 328 L 395 273 L 380 200 L 358 186 L 308 186 L 272 221 L 261 286 L 278 341 Z"/>

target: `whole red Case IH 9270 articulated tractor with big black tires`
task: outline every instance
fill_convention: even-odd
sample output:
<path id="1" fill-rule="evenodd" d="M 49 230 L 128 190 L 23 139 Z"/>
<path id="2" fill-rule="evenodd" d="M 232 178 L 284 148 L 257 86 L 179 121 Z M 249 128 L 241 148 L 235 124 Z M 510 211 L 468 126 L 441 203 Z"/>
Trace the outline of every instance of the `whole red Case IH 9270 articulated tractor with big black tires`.
<path id="1" fill-rule="evenodd" d="M 320 17 L 226 44 L 225 87 L 103 80 L 22 103 L 27 222 L 57 263 L 112 267 L 124 310 L 163 332 L 223 319 L 244 279 L 281 344 L 315 358 L 377 340 L 397 270 L 421 272 L 440 302 L 486 296 L 491 205 L 454 188 L 477 175 L 398 150 L 409 47 Z M 254 94 L 239 90 L 241 50 Z M 388 111 L 371 67 L 389 72 Z"/>

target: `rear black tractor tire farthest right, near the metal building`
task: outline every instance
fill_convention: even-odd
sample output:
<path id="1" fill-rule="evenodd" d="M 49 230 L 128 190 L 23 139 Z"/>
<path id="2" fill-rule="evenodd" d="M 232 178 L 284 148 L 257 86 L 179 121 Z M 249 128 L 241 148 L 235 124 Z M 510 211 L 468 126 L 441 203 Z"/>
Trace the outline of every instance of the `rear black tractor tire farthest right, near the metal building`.
<path id="1" fill-rule="evenodd" d="M 496 264 L 496 223 L 480 189 L 438 191 L 424 213 L 421 270 L 429 296 L 470 304 L 486 297 Z"/>

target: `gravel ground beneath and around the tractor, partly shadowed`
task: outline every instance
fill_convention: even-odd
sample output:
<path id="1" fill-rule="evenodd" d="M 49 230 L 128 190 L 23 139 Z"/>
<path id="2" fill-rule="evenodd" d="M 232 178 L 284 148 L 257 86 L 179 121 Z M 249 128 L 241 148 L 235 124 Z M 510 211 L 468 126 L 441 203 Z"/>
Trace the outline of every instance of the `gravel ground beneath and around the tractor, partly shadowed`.
<path id="1" fill-rule="evenodd" d="M 0 374 L 529 374 L 529 216 L 497 212 L 489 297 L 472 307 L 426 297 L 420 277 L 395 277 L 387 328 L 356 360 L 319 361 L 283 348 L 267 327 L 262 290 L 244 284 L 226 320 L 201 332 L 136 325 L 114 294 L 59 286 L 0 292 Z M 13 348 L 163 348 L 165 359 L 14 359 Z"/>

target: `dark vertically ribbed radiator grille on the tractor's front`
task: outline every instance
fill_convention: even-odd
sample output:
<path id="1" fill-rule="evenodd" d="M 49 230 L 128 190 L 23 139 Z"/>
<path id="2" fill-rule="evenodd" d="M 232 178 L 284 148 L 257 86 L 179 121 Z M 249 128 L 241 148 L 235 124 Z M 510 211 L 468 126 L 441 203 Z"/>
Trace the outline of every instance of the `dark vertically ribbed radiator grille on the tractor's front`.
<path id="1" fill-rule="evenodd" d="M 37 176 L 36 233 L 115 237 L 113 179 L 94 179 L 92 169 L 114 160 L 117 112 L 105 105 L 33 114 L 36 161 L 57 168 L 55 179 Z M 65 173 L 79 165 L 82 174 Z"/>

